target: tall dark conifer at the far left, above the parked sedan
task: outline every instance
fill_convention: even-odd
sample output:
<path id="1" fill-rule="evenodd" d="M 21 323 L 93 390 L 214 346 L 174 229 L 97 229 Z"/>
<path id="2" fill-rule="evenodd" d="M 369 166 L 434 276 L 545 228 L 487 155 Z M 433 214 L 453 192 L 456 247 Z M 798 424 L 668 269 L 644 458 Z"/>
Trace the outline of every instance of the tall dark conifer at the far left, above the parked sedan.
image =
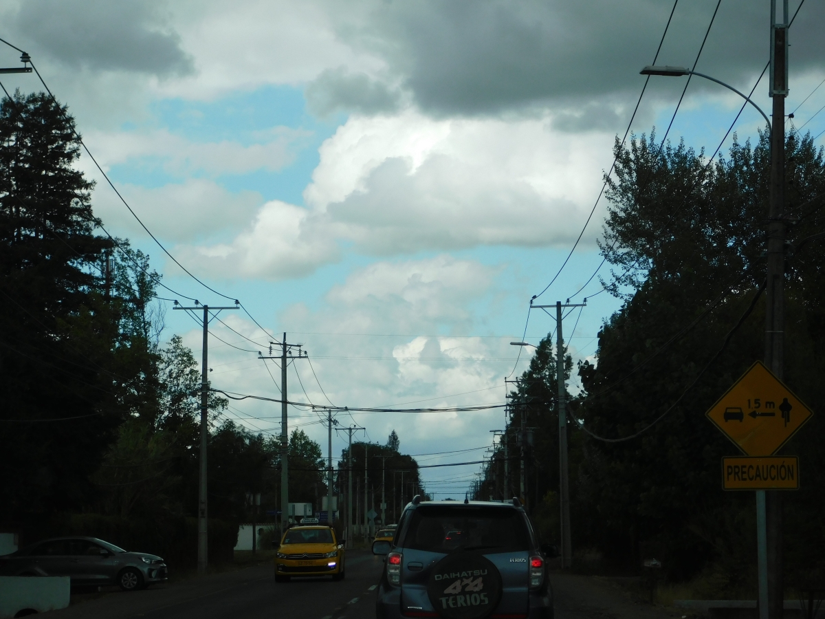
<path id="1" fill-rule="evenodd" d="M 111 242 L 94 233 L 73 130 L 45 93 L 0 103 L 3 520 L 31 522 L 92 498 L 89 475 L 135 378 L 121 373 L 129 364 L 101 294 L 97 267 Z"/>

